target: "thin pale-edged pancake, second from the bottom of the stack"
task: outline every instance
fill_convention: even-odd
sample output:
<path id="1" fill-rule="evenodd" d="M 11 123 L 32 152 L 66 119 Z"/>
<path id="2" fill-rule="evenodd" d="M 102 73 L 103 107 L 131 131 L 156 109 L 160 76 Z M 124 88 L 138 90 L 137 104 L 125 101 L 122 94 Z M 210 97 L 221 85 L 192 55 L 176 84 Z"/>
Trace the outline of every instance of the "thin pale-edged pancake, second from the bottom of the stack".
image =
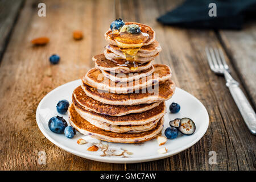
<path id="1" fill-rule="evenodd" d="M 138 132 L 144 132 L 148 130 L 154 129 L 156 127 L 158 121 L 160 120 L 157 119 L 155 121 L 152 121 L 150 123 L 147 123 L 145 125 L 134 125 L 134 126 L 122 126 L 122 125 L 109 125 L 108 123 L 104 123 L 101 121 L 97 121 L 96 119 L 89 118 L 87 121 L 91 123 L 92 125 L 105 130 L 105 131 L 111 131 L 114 133 L 138 133 Z"/>

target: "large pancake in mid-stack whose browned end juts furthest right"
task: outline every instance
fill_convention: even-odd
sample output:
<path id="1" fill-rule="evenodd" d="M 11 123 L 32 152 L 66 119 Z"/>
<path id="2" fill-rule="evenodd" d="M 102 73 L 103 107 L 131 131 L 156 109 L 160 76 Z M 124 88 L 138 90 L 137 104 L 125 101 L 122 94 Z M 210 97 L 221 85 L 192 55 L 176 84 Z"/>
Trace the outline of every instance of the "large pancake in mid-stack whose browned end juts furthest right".
<path id="1" fill-rule="evenodd" d="M 175 84 L 172 80 L 162 82 L 159 84 L 158 94 L 151 93 L 130 93 L 130 94 L 116 94 L 104 93 L 92 88 L 89 85 L 82 84 L 82 89 L 87 96 L 92 97 L 96 101 L 100 101 L 110 105 L 138 105 L 150 104 L 152 102 L 159 102 L 169 100 L 175 91 Z M 155 88 L 153 88 L 155 89 Z"/>

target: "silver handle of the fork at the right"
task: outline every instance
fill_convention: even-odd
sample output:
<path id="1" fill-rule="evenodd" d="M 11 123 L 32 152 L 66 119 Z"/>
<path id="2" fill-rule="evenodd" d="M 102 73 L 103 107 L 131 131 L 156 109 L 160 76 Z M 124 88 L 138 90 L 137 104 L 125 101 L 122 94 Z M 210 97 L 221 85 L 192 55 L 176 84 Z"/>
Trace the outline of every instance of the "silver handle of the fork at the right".
<path id="1" fill-rule="evenodd" d="M 226 81 L 226 86 L 228 86 L 230 93 L 232 94 L 232 97 L 236 102 L 237 107 L 240 110 L 240 113 L 242 114 L 242 117 L 245 120 L 247 127 L 249 128 L 253 135 L 256 135 L 256 114 L 255 111 L 253 110 L 253 107 L 251 107 L 249 101 L 245 97 L 245 94 L 243 94 L 242 90 L 238 86 L 239 84 L 237 81 L 235 81 L 233 78 L 228 80 L 226 79 Z"/>

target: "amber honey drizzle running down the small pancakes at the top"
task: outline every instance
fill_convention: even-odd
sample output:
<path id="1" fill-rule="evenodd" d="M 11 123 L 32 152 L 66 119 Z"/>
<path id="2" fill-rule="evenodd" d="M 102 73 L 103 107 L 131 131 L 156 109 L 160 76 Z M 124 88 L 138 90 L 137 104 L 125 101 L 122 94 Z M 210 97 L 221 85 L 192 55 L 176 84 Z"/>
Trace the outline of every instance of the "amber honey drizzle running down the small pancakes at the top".
<path id="1" fill-rule="evenodd" d="M 124 38 L 122 35 L 125 35 Z M 129 63 L 133 63 L 133 67 L 130 67 L 131 71 L 136 71 L 139 67 L 139 64 L 136 61 L 137 58 L 137 53 L 138 51 L 141 49 L 141 47 L 143 46 L 143 43 L 146 42 L 148 40 L 149 35 L 147 33 L 141 32 L 141 34 L 139 34 L 139 39 L 137 39 L 137 41 L 135 42 L 135 44 L 138 45 L 138 47 L 135 48 L 123 48 L 122 47 L 122 42 L 125 42 L 125 40 L 127 39 L 127 35 L 129 35 L 129 33 L 127 32 L 113 32 L 109 34 L 109 38 L 114 40 L 115 43 L 117 43 L 117 46 L 119 47 L 119 49 L 123 52 L 123 54 L 125 55 L 125 63 L 118 63 L 117 59 L 113 59 L 112 61 L 114 61 L 115 63 L 117 63 L 119 66 L 128 66 Z M 131 35 L 130 36 L 136 36 L 136 35 Z"/>

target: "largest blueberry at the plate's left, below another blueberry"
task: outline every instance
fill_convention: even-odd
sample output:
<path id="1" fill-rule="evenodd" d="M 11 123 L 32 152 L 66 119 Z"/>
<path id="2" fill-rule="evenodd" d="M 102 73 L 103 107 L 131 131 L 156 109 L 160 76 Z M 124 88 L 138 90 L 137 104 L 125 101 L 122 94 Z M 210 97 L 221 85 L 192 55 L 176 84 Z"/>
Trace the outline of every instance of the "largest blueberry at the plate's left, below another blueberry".
<path id="1" fill-rule="evenodd" d="M 49 119 L 48 127 L 54 133 L 64 133 L 65 127 L 68 126 L 68 123 L 63 119 L 63 117 L 52 117 Z"/>

